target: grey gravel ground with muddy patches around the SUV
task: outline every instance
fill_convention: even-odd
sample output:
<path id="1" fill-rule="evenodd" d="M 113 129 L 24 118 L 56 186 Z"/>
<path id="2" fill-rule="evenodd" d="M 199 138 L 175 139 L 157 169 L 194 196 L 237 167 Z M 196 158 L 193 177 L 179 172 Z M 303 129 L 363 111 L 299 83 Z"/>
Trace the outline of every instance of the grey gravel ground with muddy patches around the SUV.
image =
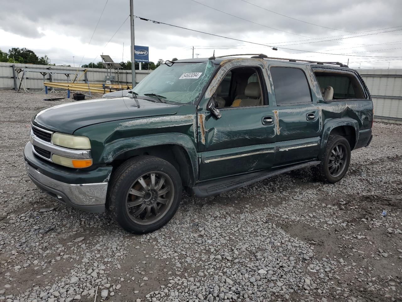
<path id="1" fill-rule="evenodd" d="M 402 301 L 402 126 L 375 123 L 336 184 L 305 169 L 184 194 L 168 225 L 133 236 L 27 177 L 31 116 L 67 101 L 44 97 L 0 92 L 0 301 Z"/>

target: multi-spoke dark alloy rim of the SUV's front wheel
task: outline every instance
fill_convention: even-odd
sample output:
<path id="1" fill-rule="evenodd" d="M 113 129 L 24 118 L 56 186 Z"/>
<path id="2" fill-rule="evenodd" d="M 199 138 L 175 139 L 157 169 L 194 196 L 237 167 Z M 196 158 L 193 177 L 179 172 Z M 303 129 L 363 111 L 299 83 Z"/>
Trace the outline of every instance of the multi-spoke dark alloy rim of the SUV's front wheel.
<path id="1" fill-rule="evenodd" d="M 152 171 L 133 182 L 127 192 L 125 208 L 133 222 L 149 225 L 166 215 L 173 199 L 172 179 L 163 172 Z"/>

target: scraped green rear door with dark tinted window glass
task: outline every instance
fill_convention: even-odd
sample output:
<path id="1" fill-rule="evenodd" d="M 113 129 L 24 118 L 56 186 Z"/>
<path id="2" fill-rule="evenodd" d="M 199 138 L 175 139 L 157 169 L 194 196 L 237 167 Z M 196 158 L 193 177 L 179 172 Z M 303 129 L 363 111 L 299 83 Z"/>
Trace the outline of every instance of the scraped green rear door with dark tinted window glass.
<path id="1" fill-rule="evenodd" d="M 275 167 L 315 159 L 320 149 L 321 116 L 306 66 L 271 66 L 277 152 Z"/>

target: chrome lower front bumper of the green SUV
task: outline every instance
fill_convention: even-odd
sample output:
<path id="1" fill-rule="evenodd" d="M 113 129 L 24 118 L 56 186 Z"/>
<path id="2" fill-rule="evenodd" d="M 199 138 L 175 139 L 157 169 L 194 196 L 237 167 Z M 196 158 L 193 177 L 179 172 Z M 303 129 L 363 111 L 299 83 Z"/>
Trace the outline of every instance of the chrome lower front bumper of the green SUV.
<path id="1" fill-rule="evenodd" d="M 25 168 L 32 182 L 57 201 L 90 213 L 105 211 L 107 182 L 67 184 L 40 173 L 27 161 Z"/>

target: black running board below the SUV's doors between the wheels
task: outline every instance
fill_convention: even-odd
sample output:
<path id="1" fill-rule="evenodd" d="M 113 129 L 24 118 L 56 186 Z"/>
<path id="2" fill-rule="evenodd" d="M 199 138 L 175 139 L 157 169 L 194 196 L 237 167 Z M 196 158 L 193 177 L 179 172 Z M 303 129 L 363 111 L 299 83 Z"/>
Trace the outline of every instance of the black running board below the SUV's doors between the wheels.
<path id="1" fill-rule="evenodd" d="M 272 176 L 276 176 L 292 170 L 306 168 L 311 165 L 318 165 L 321 161 L 308 161 L 306 163 L 300 163 L 291 167 L 277 169 L 277 170 L 264 170 L 258 172 L 252 172 L 249 174 L 242 174 L 236 176 L 225 177 L 221 179 L 207 180 L 200 182 L 190 189 L 190 194 L 195 197 L 208 197 L 213 195 L 222 194 L 224 192 L 242 188 L 258 182 Z"/>

